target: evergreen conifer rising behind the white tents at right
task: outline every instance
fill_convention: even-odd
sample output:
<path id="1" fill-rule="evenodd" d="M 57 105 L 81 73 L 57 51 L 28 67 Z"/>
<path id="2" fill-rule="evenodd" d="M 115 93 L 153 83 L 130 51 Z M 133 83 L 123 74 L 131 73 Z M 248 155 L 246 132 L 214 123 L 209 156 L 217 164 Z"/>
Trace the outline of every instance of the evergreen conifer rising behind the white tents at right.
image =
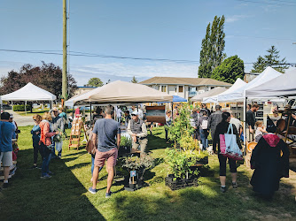
<path id="1" fill-rule="evenodd" d="M 268 54 L 264 57 L 257 57 L 257 61 L 253 63 L 251 72 L 263 72 L 268 66 L 276 69 L 277 72 L 284 72 L 285 69 L 289 68 L 289 65 L 285 65 L 285 57 L 280 59 L 279 50 L 277 50 L 274 45 L 272 45 L 267 52 Z"/>

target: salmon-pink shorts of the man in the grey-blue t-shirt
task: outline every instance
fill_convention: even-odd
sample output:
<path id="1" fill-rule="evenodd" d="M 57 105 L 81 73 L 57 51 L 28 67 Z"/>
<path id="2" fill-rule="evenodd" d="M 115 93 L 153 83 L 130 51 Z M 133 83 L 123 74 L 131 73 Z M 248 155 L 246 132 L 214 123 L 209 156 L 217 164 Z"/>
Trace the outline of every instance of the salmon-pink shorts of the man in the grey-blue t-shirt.
<path id="1" fill-rule="evenodd" d="M 118 156 L 118 149 L 110 149 L 106 152 L 99 152 L 96 149 L 96 156 L 95 156 L 95 166 L 103 167 L 105 164 L 105 160 L 107 161 L 108 167 L 114 167 L 116 165 L 116 160 Z"/>

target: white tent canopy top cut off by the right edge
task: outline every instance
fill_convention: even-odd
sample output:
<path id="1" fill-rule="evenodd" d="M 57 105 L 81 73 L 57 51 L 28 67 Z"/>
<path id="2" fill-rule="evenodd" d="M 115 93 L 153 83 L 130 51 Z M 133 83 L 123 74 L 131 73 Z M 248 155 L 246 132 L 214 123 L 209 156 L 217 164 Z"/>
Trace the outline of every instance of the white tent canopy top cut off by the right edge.
<path id="1" fill-rule="evenodd" d="M 253 97 L 278 97 L 296 95 L 296 70 L 286 72 L 277 78 L 269 80 L 258 87 L 245 90 L 245 96 Z"/>

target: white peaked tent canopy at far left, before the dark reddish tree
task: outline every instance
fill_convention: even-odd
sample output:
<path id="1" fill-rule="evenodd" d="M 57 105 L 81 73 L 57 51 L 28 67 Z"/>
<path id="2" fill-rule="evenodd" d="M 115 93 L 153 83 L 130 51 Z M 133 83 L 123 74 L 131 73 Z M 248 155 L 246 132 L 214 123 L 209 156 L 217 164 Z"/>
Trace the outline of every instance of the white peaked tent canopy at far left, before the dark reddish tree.
<path id="1" fill-rule="evenodd" d="M 23 88 L 2 95 L 1 99 L 3 101 L 53 101 L 57 99 L 57 96 L 29 82 Z"/>

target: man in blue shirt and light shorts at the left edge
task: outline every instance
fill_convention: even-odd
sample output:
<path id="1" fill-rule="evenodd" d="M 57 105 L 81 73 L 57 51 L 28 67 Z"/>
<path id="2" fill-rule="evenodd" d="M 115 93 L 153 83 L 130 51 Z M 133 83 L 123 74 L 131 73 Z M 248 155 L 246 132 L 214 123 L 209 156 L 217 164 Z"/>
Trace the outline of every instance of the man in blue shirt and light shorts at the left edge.
<path id="1" fill-rule="evenodd" d="M 9 122 L 10 117 L 11 115 L 8 112 L 3 112 L 0 121 L 0 162 L 2 162 L 4 166 L 3 188 L 8 187 L 10 166 L 12 166 L 12 139 L 15 138 L 15 127 Z"/>

